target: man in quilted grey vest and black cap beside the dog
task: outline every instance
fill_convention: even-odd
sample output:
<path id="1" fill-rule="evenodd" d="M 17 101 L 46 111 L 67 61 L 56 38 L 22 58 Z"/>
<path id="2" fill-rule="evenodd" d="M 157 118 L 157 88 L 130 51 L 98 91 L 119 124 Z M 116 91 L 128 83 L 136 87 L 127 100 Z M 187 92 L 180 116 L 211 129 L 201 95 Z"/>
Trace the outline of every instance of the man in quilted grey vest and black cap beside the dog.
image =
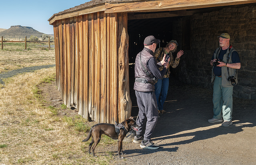
<path id="1" fill-rule="evenodd" d="M 136 131 L 133 142 L 141 143 L 140 147 L 142 149 L 158 149 L 160 147 L 158 144 L 154 144 L 150 139 L 158 119 L 154 84 L 157 79 L 161 79 L 164 76 L 168 67 L 168 62 L 165 62 L 165 56 L 158 64 L 153 56 L 158 43 L 160 43 L 160 40 L 156 39 L 154 36 L 146 37 L 144 40 L 144 49 L 137 54 L 135 60 L 134 90 L 139 107 L 136 124 L 139 128 L 138 131 Z M 160 71 L 158 65 L 163 65 L 164 69 Z M 146 119 L 146 130 L 143 137 L 142 128 Z"/>

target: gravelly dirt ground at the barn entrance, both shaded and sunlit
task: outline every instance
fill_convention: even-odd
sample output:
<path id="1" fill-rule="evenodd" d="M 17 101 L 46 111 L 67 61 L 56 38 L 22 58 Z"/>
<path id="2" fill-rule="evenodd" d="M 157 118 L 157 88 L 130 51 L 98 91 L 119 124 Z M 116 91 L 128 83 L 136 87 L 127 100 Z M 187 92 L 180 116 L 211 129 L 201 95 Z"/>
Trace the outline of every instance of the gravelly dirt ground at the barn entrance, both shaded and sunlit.
<path id="1" fill-rule="evenodd" d="M 62 104 L 55 83 L 40 86 L 51 104 Z M 130 89 L 132 116 L 138 114 L 134 90 Z M 117 145 L 97 146 L 98 156 L 111 156 L 113 164 L 141 165 L 255 165 L 256 164 L 256 100 L 233 98 L 233 125 L 208 123 L 212 118 L 212 90 L 187 85 L 170 78 L 166 114 L 160 114 L 152 135 L 156 150 L 141 149 L 139 144 L 124 143 L 126 155 L 120 160 Z M 76 109 L 64 109 L 59 115 L 77 115 Z M 92 121 L 90 125 L 94 125 Z M 85 135 L 87 136 L 87 135 Z M 88 156 L 85 153 L 84 156 Z"/>

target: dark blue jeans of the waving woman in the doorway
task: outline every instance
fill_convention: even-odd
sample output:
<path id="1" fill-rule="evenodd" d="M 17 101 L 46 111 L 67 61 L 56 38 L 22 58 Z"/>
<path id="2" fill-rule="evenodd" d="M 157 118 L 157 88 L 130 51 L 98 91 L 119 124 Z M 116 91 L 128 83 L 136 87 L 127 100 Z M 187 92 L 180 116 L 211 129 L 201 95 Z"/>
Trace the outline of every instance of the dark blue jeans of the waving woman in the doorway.
<path id="1" fill-rule="evenodd" d="M 155 94 L 158 110 L 164 109 L 164 101 L 166 99 L 169 88 L 169 78 L 162 78 L 155 84 Z"/>

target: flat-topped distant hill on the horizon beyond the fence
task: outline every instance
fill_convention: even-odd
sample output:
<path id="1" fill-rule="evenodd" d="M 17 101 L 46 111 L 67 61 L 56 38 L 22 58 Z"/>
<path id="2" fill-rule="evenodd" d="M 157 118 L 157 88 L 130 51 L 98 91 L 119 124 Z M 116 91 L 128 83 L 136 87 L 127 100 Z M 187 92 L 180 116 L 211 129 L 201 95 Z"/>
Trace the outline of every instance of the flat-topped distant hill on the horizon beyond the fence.
<path id="1" fill-rule="evenodd" d="M 44 33 L 38 32 L 31 27 L 28 26 L 11 26 L 9 29 L 0 31 L 0 36 L 6 37 L 24 37 L 30 38 L 30 36 L 37 36 L 40 38 Z"/>

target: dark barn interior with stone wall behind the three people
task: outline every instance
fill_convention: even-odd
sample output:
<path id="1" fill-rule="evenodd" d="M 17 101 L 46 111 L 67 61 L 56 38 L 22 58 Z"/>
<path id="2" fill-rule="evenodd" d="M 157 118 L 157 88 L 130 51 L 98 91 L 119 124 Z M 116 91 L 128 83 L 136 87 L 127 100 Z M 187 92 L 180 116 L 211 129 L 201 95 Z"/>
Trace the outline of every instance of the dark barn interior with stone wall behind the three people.
<path id="1" fill-rule="evenodd" d="M 161 40 L 158 45 L 160 47 L 165 47 L 170 40 L 176 40 L 179 46 L 173 54 L 174 57 L 179 50 L 184 50 L 178 67 L 170 68 L 172 78 L 181 83 L 211 89 L 212 67 L 209 62 L 214 49 L 219 46 L 217 36 L 223 32 L 229 33 L 232 37 L 231 44 L 239 52 L 241 59 L 238 85 L 234 86 L 233 97 L 256 99 L 255 66 L 248 61 L 249 58 L 255 59 L 255 42 L 250 40 L 255 37 L 254 8 L 255 4 L 243 4 L 170 12 L 129 13 L 128 53 L 132 115 L 137 111 L 133 89 L 134 62 L 136 55 L 144 48 L 144 38 L 149 35 Z"/>

